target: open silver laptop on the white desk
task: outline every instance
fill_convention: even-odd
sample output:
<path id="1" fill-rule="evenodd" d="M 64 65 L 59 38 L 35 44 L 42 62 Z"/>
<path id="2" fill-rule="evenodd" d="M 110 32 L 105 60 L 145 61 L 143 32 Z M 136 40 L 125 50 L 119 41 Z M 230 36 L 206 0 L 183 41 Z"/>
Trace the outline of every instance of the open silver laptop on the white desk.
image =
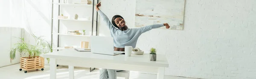
<path id="1" fill-rule="evenodd" d="M 91 52 L 94 54 L 117 55 L 124 51 L 114 51 L 113 37 L 91 36 Z"/>

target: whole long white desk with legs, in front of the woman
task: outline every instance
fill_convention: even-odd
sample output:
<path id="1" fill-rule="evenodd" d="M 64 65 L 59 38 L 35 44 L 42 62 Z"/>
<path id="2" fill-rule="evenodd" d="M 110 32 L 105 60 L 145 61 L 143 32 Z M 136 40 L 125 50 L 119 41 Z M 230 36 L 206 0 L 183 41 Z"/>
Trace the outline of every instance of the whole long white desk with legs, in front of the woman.
<path id="1" fill-rule="evenodd" d="M 56 79 L 56 65 L 69 65 L 69 77 L 74 79 L 74 66 L 105 68 L 127 71 L 142 71 L 157 73 L 157 79 L 164 79 L 164 69 L 169 67 L 165 55 L 157 54 L 157 61 L 150 61 L 148 54 L 102 55 L 91 52 L 78 52 L 74 49 L 43 54 L 44 58 L 50 58 L 50 79 Z"/>

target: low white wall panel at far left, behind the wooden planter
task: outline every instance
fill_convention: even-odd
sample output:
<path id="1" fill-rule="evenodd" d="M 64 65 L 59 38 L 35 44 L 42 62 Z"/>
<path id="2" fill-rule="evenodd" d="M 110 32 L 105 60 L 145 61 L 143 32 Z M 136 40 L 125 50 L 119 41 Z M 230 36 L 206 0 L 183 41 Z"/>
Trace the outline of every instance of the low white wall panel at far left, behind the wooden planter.
<path id="1" fill-rule="evenodd" d="M 21 37 L 22 28 L 12 28 L 12 27 L 0 27 L 0 67 L 6 65 L 13 65 L 20 62 L 20 54 L 16 52 L 15 59 L 10 59 L 11 48 L 18 42 L 21 42 L 19 39 Z M 4 60 L 4 61 L 3 61 Z"/>

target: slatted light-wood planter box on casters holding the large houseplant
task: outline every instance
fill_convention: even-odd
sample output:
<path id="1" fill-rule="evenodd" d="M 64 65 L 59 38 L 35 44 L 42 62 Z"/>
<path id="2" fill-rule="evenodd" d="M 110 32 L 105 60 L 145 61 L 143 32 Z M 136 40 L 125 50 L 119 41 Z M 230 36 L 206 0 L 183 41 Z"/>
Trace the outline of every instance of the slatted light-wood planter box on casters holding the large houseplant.
<path id="1" fill-rule="evenodd" d="M 29 70 L 40 69 L 44 71 L 44 58 L 41 56 L 36 56 L 34 59 L 28 59 L 28 57 L 20 58 L 20 71 L 25 70 L 27 73 Z"/>

